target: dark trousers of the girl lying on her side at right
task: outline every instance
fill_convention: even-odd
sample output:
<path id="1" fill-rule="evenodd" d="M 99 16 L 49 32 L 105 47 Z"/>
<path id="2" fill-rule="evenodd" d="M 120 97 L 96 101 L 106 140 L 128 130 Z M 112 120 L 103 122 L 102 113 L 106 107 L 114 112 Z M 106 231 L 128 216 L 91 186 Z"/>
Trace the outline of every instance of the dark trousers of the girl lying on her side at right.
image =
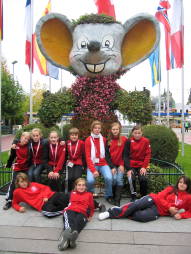
<path id="1" fill-rule="evenodd" d="M 108 210 L 111 219 L 129 218 L 135 221 L 148 222 L 159 217 L 157 207 L 150 196 L 142 197 L 119 208 Z"/>

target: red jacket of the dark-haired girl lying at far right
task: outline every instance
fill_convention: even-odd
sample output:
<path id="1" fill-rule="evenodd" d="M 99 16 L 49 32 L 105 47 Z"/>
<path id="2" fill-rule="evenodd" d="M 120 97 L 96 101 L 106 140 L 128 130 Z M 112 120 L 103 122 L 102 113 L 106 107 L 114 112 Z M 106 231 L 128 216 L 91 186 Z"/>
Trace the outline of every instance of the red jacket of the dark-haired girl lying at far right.
<path id="1" fill-rule="evenodd" d="M 178 191 L 177 195 L 173 192 L 173 187 L 169 186 L 163 191 L 155 194 L 149 194 L 155 202 L 157 210 L 161 216 L 169 216 L 168 209 L 173 206 L 178 209 L 184 209 L 181 213 L 182 219 L 191 218 L 191 194 L 186 191 Z"/>

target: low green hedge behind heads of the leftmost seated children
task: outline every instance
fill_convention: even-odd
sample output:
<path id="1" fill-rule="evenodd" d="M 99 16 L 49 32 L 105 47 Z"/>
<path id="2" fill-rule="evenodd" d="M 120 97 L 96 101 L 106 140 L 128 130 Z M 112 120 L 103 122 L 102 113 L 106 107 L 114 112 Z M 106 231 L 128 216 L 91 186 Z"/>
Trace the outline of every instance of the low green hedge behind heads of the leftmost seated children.
<path id="1" fill-rule="evenodd" d="M 45 127 L 43 124 L 40 124 L 40 123 L 33 123 L 33 124 L 28 124 L 28 125 L 24 126 L 21 130 L 18 130 L 18 131 L 16 132 L 15 138 L 16 138 L 16 139 L 20 139 L 21 134 L 22 134 L 24 131 L 29 131 L 29 132 L 30 132 L 30 131 L 31 131 L 32 129 L 34 129 L 34 128 L 39 128 L 39 129 L 41 129 L 42 134 L 43 134 L 43 138 L 48 138 L 49 133 L 50 133 L 51 131 L 54 131 L 54 130 L 56 130 L 56 131 L 58 132 L 59 136 L 61 137 L 61 133 L 60 133 L 60 130 L 59 130 L 58 126 L 52 126 L 52 127 L 50 127 L 50 128 L 47 128 L 47 127 Z"/>

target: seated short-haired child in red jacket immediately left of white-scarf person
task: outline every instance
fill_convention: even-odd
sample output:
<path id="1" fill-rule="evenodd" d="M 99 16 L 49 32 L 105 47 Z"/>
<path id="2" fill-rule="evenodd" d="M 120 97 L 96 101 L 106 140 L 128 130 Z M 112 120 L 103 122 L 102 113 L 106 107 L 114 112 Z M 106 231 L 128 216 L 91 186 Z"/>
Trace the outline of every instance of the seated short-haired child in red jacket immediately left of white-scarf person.
<path id="1" fill-rule="evenodd" d="M 66 142 L 67 150 L 67 173 L 68 191 L 73 189 L 76 179 L 82 177 L 83 167 L 85 166 L 85 147 L 84 141 L 79 139 L 79 130 L 71 128 L 69 130 L 70 139 Z"/>

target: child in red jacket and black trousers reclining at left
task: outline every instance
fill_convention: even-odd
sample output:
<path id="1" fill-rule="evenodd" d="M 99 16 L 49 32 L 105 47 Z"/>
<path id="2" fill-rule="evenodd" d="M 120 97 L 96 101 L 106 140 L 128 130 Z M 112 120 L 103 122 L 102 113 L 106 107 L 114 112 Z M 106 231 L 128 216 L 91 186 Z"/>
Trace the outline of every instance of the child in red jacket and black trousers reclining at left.
<path id="1" fill-rule="evenodd" d="M 28 176 L 24 173 L 17 175 L 15 186 L 12 207 L 20 213 L 26 212 L 26 208 L 20 206 L 20 203 L 24 202 L 50 218 L 63 214 L 69 202 L 68 195 L 53 192 L 46 185 L 29 182 Z"/>

